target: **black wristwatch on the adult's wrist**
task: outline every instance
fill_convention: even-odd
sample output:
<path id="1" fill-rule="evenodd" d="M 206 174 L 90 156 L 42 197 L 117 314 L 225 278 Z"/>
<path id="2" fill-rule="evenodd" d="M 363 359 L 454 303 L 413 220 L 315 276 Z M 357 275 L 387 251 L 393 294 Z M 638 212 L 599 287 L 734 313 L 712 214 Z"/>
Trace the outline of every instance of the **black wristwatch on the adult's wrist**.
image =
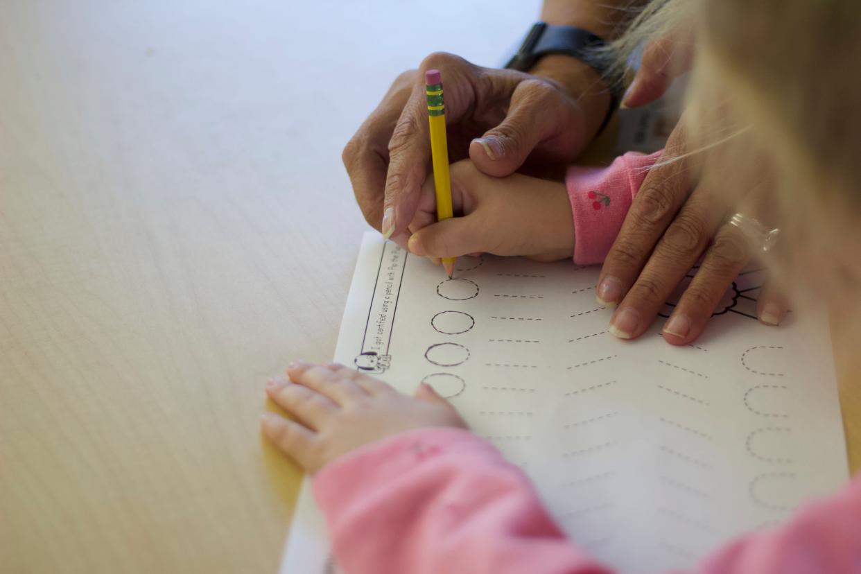
<path id="1" fill-rule="evenodd" d="M 610 66 L 596 51 L 596 48 L 604 46 L 606 42 L 600 36 L 582 28 L 551 26 L 545 22 L 537 22 L 530 33 L 526 34 L 523 45 L 505 67 L 511 70 L 529 71 L 538 59 L 548 54 L 565 54 L 584 62 L 598 72 L 610 90 L 610 110 L 601 127 L 598 128 L 598 133 L 601 133 L 610 122 L 613 112 L 619 107 L 619 102 L 622 102 L 623 95 L 621 78 L 610 77 Z"/>

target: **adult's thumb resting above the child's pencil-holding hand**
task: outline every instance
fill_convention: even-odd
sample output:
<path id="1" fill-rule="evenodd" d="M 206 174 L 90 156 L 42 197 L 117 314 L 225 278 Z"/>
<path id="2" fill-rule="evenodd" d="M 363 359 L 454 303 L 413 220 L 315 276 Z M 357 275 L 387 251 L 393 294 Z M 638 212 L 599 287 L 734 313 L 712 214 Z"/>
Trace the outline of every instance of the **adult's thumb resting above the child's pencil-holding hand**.
<path id="1" fill-rule="evenodd" d="M 511 94 L 508 115 L 469 145 L 469 158 L 488 176 L 510 176 L 543 139 L 553 133 L 560 94 L 548 83 L 524 80 Z"/>

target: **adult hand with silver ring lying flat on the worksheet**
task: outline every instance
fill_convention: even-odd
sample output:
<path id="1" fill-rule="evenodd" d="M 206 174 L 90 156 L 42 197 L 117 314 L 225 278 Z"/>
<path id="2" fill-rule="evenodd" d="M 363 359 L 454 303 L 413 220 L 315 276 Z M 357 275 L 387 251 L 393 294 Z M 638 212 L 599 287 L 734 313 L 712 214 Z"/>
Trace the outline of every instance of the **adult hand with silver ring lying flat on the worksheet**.
<path id="1" fill-rule="evenodd" d="M 676 159 L 661 164 L 662 158 L 647 175 L 598 279 L 598 300 L 607 306 L 618 304 L 610 332 L 623 339 L 647 330 L 704 254 L 697 275 L 663 328 L 668 343 L 691 343 L 752 256 L 742 232 L 726 223 L 720 189 L 691 180 L 698 155 L 685 157 L 685 144 L 684 123 L 679 123 L 665 151 L 665 157 Z M 779 324 L 786 311 L 784 297 L 766 284 L 759 295 L 759 320 Z"/>

